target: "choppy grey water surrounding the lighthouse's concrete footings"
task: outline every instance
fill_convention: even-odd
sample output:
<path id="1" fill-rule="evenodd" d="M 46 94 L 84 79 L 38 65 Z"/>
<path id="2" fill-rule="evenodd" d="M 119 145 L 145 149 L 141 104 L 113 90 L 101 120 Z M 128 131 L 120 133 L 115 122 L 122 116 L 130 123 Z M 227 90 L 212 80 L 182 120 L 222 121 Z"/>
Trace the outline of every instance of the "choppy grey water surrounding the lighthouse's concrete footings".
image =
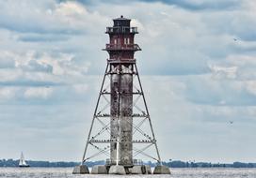
<path id="1" fill-rule="evenodd" d="M 256 169 L 171 169 L 171 175 L 72 175 L 72 168 L 0 168 L 0 178 L 256 178 Z"/>

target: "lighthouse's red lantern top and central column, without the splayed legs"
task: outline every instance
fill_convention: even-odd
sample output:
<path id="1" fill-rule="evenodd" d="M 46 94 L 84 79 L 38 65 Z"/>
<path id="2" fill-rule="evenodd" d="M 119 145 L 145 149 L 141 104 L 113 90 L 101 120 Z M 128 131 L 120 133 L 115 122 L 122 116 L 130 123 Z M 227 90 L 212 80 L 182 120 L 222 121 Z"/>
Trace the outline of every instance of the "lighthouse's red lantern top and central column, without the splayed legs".
<path id="1" fill-rule="evenodd" d="M 110 65 L 110 119 L 111 164 L 133 166 L 133 76 L 135 52 L 141 49 L 135 43 L 136 27 L 130 27 L 130 19 L 114 19 L 114 26 L 106 28 Z"/>

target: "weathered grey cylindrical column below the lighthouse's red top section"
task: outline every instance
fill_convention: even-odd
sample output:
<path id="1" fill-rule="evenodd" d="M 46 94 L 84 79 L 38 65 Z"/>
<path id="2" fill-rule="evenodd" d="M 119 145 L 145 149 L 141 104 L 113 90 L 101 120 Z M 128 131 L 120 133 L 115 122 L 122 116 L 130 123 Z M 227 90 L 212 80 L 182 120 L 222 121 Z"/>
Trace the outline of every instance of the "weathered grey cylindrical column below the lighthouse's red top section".
<path id="1" fill-rule="evenodd" d="M 116 141 L 120 137 L 121 165 L 132 165 L 133 162 L 133 71 L 132 65 L 111 66 L 111 137 Z M 123 73 L 122 73 L 123 72 Z M 120 126 L 118 124 L 120 119 Z M 111 159 L 117 159 L 117 143 L 111 143 Z"/>

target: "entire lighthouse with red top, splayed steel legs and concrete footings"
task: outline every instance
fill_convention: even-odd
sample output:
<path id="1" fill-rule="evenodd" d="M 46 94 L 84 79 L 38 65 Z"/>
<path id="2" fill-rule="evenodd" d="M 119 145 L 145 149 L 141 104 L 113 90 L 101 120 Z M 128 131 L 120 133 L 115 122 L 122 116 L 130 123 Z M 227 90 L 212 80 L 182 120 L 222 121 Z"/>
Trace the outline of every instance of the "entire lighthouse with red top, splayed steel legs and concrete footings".
<path id="1" fill-rule="evenodd" d="M 109 43 L 104 51 L 108 52 L 109 58 L 85 152 L 81 166 L 75 167 L 73 173 L 88 173 L 86 162 L 103 154 L 108 156 L 105 165 L 93 167 L 91 173 L 151 173 L 151 168 L 136 159 L 138 155 L 158 162 L 153 173 L 169 173 L 161 162 L 136 67 L 135 52 L 141 51 L 135 43 L 137 27 L 131 27 L 131 20 L 123 16 L 113 22 L 114 25 L 106 27 L 105 31 L 109 35 Z M 142 106 L 138 106 L 139 100 Z M 147 130 L 143 130 L 145 125 Z M 136 144 L 140 147 L 137 148 Z M 88 156 L 88 147 L 96 152 Z M 145 153 L 150 147 L 153 147 L 154 155 Z"/>

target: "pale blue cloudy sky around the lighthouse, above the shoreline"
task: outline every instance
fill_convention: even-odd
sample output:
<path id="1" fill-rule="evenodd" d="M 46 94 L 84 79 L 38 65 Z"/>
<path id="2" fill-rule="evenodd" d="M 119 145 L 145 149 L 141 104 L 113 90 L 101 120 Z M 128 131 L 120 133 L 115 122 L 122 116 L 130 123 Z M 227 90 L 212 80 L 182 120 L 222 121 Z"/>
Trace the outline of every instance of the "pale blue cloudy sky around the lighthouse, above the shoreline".
<path id="1" fill-rule="evenodd" d="M 0 1 L 0 158 L 81 160 L 120 15 L 162 159 L 256 162 L 251 0 Z"/>

